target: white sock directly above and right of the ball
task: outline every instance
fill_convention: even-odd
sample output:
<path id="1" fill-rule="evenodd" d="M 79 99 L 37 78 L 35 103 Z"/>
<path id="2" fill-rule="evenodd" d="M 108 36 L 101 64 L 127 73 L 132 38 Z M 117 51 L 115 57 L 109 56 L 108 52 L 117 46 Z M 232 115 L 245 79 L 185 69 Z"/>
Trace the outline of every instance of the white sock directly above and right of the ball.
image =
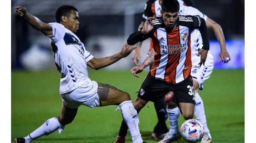
<path id="1" fill-rule="evenodd" d="M 207 127 L 207 123 L 206 123 L 206 116 L 204 113 L 204 107 L 203 107 L 203 100 L 201 99 L 201 97 L 199 96 L 198 93 L 195 94 L 195 118 L 196 120 L 200 121 L 203 126 L 204 126 L 204 131 L 205 132 L 210 132 L 208 127 Z"/>

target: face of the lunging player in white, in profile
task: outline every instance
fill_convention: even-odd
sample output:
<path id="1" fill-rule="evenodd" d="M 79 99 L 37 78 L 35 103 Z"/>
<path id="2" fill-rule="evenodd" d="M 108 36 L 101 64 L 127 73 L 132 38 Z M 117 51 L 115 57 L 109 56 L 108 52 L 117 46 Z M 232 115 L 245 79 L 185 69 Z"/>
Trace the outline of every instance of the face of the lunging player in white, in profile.
<path id="1" fill-rule="evenodd" d="M 75 10 L 72 10 L 70 12 L 69 17 L 66 19 L 66 27 L 68 30 L 72 31 L 73 33 L 76 33 L 76 31 L 79 29 L 79 15 L 78 12 Z"/>

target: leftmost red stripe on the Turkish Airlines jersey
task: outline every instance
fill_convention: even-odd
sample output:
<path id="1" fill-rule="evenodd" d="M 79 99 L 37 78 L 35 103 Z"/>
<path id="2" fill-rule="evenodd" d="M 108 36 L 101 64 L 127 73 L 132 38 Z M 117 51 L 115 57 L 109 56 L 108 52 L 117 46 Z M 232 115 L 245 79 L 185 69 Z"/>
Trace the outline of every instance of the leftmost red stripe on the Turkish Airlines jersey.
<path id="1" fill-rule="evenodd" d="M 157 39 L 156 31 L 154 33 L 154 37 L 150 41 L 151 41 L 150 45 L 153 45 L 153 48 L 154 48 L 154 50 L 156 52 L 155 57 L 154 57 L 154 62 L 152 64 L 152 68 L 151 68 L 151 76 L 155 77 L 155 75 L 156 75 L 156 68 L 159 66 L 160 58 L 161 58 L 160 45 L 159 45 L 159 42 L 158 42 L 158 39 Z"/>

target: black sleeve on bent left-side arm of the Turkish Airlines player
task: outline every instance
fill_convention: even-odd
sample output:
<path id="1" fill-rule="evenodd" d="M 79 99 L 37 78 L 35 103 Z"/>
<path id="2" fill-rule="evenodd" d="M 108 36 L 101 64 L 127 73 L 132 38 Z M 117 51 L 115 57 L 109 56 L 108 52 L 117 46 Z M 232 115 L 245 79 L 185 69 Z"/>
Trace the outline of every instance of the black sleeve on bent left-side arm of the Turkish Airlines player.
<path id="1" fill-rule="evenodd" d="M 142 42 L 142 41 L 148 39 L 149 37 L 150 38 L 153 37 L 154 32 L 155 32 L 155 28 L 152 31 L 150 31 L 149 33 L 147 33 L 147 34 L 142 34 L 141 33 L 142 29 L 143 28 L 139 29 L 137 32 L 132 33 L 128 37 L 128 39 L 127 39 L 127 44 L 128 45 L 135 45 L 136 43 Z"/>

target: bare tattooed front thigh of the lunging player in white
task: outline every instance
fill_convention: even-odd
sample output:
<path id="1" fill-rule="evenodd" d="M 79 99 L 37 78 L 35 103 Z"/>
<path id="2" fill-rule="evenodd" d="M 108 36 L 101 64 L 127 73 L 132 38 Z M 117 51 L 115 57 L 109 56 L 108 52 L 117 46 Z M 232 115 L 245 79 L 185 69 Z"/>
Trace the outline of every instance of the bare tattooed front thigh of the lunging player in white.
<path id="1" fill-rule="evenodd" d="M 98 97 L 101 106 L 119 105 L 124 101 L 129 101 L 130 95 L 127 92 L 121 91 L 116 87 L 108 84 L 98 83 Z"/>

